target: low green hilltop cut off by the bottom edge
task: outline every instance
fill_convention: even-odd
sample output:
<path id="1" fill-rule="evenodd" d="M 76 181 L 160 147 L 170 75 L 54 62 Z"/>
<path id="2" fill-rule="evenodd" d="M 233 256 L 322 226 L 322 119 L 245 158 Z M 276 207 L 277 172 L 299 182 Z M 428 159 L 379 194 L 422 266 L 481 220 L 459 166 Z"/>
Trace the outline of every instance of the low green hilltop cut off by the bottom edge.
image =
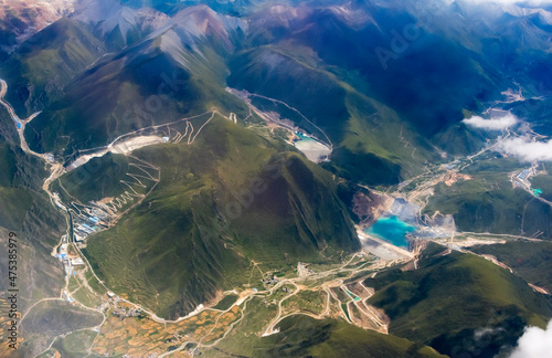
<path id="1" fill-rule="evenodd" d="M 444 357 L 404 338 L 364 330 L 341 320 L 299 315 L 284 319 L 279 328 L 278 334 L 261 340 L 255 357 Z"/>

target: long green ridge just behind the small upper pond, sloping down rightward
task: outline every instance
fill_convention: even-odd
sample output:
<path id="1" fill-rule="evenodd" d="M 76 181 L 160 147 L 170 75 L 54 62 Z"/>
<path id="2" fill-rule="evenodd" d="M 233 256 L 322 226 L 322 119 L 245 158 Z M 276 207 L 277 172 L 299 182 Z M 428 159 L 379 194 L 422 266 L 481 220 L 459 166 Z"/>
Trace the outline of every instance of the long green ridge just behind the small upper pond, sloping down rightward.
<path id="1" fill-rule="evenodd" d="M 407 122 L 359 92 L 367 84 L 358 75 L 328 66 L 306 46 L 284 42 L 243 51 L 230 61 L 230 69 L 231 87 L 283 101 L 320 127 L 335 146 L 328 168 L 342 177 L 368 185 L 396 183 L 417 172 L 424 160 L 436 159 Z M 263 108 L 270 110 L 269 102 Z M 306 120 L 289 119 L 326 140 Z"/>

